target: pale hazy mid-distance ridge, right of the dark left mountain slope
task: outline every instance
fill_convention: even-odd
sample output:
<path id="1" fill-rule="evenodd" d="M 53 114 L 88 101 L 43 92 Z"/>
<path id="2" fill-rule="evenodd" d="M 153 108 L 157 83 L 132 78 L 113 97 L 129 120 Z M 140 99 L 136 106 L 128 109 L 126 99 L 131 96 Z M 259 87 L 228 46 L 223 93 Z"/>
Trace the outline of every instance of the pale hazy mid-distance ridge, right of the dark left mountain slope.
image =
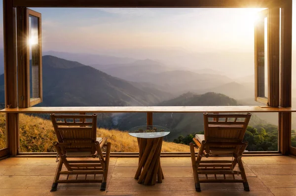
<path id="1" fill-rule="evenodd" d="M 188 91 L 199 92 L 205 89 L 209 90 L 232 82 L 230 78 L 223 75 L 200 74 L 180 69 L 170 70 L 170 68 L 163 65 L 134 65 L 110 68 L 104 71 L 124 80 L 153 84 L 154 88 L 169 92 L 175 96 Z"/>

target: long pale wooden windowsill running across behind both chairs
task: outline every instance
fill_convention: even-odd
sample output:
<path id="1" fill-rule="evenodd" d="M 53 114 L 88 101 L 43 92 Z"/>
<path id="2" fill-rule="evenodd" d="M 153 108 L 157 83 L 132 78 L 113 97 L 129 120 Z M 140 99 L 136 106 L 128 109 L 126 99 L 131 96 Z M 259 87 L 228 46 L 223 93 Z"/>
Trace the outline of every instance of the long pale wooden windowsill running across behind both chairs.
<path id="1" fill-rule="evenodd" d="M 128 113 L 128 112 L 296 112 L 291 107 L 266 106 L 127 106 L 127 107 L 29 107 L 5 108 L 0 113 Z"/>

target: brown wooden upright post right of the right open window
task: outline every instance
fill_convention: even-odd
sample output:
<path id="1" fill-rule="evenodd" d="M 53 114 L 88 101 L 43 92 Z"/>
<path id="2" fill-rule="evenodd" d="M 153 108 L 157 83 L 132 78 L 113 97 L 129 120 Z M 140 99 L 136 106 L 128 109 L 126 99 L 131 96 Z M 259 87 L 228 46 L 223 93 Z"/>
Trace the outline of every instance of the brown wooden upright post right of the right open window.
<path id="1" fill-rule="evenodd" d="M 280 106 L 292 106 L 292 0 L 286 0 L 281 9 L 281 66 Z M 280 152 L 289 153 L 291 145 L 291 113 L 279 114 Z M 292 151 L 291 151 L 292 152 Z M 295 152 L 295 151 L 293 151 Z M 292 153 L 293 153 L 292 152 Z M 293 153 L 294 154 L 294 153 Z M 296 155 L 296 154 L 295 154 Z"/>

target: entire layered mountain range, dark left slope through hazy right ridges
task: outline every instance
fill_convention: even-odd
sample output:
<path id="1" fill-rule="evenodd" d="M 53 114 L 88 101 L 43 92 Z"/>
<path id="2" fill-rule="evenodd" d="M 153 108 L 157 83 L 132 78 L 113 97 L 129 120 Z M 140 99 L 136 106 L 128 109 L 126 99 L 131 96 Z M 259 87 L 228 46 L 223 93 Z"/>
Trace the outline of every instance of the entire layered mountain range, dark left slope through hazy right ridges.
<path id="1" fill-rule="evenodd" d="M 162 65 L 164 69 L 159 73 L 153 73 L 149 69 L 146 70 L 147 72 L 138 74 L 134 72 L 132 81 L 127 81 L 92 66 L 50 55 L 43 56 L 42 62 L 43 102 L 37 106 L 231 106 L 240 105 L 240 103 L 226 96 L 226 93 L 240 92 L 242 96 L 248 93 L 240 84 L 232 82 L 226 76 L 198 74 L 186 70 L 165 70 L 165 65 Z M 130 67 L 131 64 L 123 66 Z M 138 61 L 134 66 L 158 65 L 158 62 L 144 60 Z M 2 74 L 0 75 L 0 98 L 4 98 L 3 81 Z M 170 93 L 174 90 L 176 93 L 181 92 L 180 89 L 201 90 L 198 94 L 188 92 L 181 96 Z M 3 99 L 0 102 L 3 102 Z M 171 130 L 166 138 L 170 141 L 180 134 L 186 135 L 203 130 L 201 113 L 155 113 L 153 122 Z M 253 115 L 250 125 L 262 122 L 265 121 Z M 143 124 L 146 124 L 146 114 L 143 113 L 98 115 L 98 127 L 126 131 Z"/>

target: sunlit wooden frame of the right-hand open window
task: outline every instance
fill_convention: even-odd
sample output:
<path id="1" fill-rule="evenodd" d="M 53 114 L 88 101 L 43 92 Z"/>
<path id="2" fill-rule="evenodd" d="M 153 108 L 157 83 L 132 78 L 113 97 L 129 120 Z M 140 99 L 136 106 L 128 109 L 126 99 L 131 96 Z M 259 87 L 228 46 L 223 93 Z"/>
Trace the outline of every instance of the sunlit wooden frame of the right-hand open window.
<path id="1" fill-rule="evenodd" d="M 264 18 L 267 18 L 267 76 L 268 93 L 264 88 Z M 280 8 L 261 11 L 255 26 L 255 100 L 267 106 L 280 106 Z"/>

